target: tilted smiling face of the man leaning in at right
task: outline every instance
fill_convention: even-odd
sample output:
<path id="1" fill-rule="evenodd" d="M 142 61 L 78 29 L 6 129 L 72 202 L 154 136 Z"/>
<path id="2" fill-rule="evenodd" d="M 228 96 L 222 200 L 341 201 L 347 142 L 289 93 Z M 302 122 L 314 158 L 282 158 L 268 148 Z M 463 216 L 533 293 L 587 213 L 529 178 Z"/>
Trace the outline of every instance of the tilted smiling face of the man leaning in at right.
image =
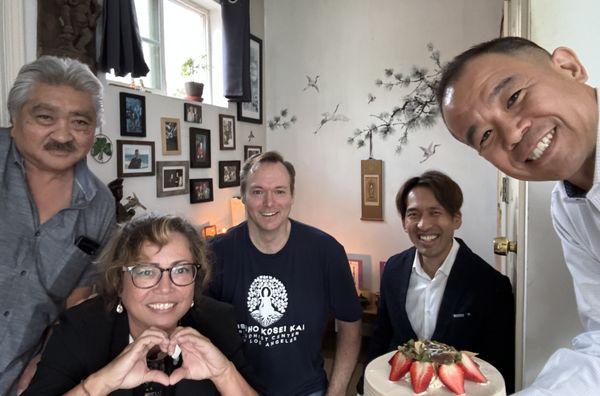
<path id="1" fill-rule="evenodd" d="M 598 124 L 586 79 L 567 48 L 552 58 L 479 55 L 445 90 L 444 119 L 458 140 L 512 177 L 580 185 L 593 175 Z"/>

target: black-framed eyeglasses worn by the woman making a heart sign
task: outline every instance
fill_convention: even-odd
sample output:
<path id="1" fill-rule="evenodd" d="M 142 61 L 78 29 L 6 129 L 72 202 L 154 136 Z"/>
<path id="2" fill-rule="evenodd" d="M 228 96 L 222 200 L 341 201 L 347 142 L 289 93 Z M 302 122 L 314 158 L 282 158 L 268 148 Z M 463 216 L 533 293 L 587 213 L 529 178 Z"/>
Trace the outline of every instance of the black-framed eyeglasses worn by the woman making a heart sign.
<path id="1" fill-rule="evenodd" d="M 171 268 L 160 268 L 157 264 L 136 264 L 123 267 L 123 272 L 129 272 L 133 285 L 140 289 L 149 289 L 158 285 L 163 272 L 169 273 L 169 278 L 176 286 L 187 286 L 194 283 L 200 266 L 194 263 L 177 263 Z"/>

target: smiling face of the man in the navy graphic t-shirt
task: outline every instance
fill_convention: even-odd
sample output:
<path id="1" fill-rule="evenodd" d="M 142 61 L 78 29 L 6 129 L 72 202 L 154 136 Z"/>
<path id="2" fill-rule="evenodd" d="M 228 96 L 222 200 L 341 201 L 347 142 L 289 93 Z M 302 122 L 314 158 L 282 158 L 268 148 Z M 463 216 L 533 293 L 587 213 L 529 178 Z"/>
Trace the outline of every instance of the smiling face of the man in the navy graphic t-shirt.
<path id="1" fill-rule="evenodd" d="M 280 162 L 263 162 L 248 176 L 244 194 L 251 233 L 282 236 L 294 203 L 290 175 Z"/>

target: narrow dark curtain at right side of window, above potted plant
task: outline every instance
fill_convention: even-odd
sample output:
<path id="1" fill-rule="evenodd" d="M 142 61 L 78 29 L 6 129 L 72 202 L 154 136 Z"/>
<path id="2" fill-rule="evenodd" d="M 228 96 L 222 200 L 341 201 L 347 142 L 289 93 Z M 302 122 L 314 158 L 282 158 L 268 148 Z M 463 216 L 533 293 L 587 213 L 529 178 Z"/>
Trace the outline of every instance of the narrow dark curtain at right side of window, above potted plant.
<path id="1" fill-rule="evenodd" d="M 249 102 L 250 4 L 249 0 L 221 0 L 225 97 Z"/>

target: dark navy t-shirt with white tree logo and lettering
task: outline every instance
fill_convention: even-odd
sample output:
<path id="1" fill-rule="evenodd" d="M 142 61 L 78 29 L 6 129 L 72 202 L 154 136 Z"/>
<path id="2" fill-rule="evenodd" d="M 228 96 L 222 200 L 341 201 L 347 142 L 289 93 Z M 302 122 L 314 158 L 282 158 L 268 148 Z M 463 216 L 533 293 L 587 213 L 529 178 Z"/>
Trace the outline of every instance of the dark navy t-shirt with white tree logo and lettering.
<path id="1" fill-rule="evenodd" d="M 346 252 L 330 235 L 291 220 L 275 254 L 261 253 L 244 222 L 211 241 L 209 294 L 234 305 L 244 354 L 265 389 L 302 396 L 327 388 L 321 339 L 329 313 L 353 322 L 361 308 Z"/>

